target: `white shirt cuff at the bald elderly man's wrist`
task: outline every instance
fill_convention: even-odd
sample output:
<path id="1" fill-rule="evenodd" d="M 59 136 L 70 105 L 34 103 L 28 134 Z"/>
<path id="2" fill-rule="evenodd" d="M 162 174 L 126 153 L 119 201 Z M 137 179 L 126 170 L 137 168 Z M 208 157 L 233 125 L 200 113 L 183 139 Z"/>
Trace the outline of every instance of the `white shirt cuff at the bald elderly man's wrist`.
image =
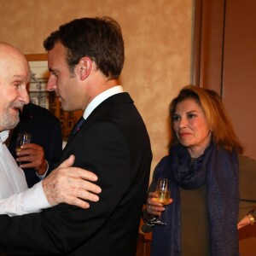
<path id="1" fill-rule="evenodd" d="M 31 212 L 41 212 L 45 208 L 51 207 L 44 195 L 42 182 L 36 183 L 31 189 L 22 193 L 21 202 L 24 214 Z"/>

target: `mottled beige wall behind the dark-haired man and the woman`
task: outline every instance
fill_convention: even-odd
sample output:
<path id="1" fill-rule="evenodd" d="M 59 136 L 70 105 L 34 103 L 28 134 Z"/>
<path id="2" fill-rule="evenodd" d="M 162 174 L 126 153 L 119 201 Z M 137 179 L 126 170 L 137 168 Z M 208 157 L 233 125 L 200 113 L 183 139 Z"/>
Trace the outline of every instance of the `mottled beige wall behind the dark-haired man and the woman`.
<path id="1" fill-rule="evenodd" d="M 193 0 L 0 0 L 0 41 L 25 54 L 62 23 L 109 15 L 125 38 L 120 81 L 143 115 L 151 138 L 152 168 L 166 154 L 168 104 L 190 84 Z"/>

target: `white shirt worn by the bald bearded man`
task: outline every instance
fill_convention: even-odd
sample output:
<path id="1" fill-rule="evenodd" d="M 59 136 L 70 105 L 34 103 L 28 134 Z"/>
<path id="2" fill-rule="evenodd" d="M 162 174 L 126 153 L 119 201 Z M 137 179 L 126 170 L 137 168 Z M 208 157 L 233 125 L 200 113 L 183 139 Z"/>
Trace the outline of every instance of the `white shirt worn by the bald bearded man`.
<path id="1" fill-rule="evenodd" d="M 50 207 L 42 182 L 27 189 L 24 172 L 4 144 L 8 137 L 9 131 L 0 132 L 0 214 L 22 215 Z"/>

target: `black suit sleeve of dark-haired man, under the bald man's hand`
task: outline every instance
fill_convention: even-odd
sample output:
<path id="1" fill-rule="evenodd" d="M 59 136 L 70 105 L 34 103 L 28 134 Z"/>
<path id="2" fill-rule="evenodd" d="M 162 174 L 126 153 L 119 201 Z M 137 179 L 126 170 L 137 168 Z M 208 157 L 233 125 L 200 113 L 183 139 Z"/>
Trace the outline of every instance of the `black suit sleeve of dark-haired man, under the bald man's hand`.
<path id="1" fill-rule="evenodd" d="M 64 153 L 67 157 L 75 154 L 75 166 L 96 173 L 102 188 L 100 201 L 90 203 L 86 210 L 61 204 L 40 213 L 0 216 L 0 252 L 66 253 L 99 230 L 113 228 L 107 220 L 130 182 L 131 155 L 124 134 L 112 122 L 98 122 L 84 133 L 79 131 Z"/>

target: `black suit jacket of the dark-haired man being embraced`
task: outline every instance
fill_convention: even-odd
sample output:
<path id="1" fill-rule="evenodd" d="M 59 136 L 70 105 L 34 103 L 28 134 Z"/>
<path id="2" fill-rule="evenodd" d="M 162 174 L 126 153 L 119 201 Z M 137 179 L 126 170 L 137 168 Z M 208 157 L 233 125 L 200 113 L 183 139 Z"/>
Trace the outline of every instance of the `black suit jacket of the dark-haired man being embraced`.
<path id="1" fill-rule="evenodd" d="M 0 216 L 0 252 L 134 256 L 152 153 L 143 119 L 127 93 L 102 102 L 67 143 L 74 166 L 95 172 L 100 201 L 61 204 L 21 217 Z M 29 243 L 26 241 L 29 240 Z"/>

